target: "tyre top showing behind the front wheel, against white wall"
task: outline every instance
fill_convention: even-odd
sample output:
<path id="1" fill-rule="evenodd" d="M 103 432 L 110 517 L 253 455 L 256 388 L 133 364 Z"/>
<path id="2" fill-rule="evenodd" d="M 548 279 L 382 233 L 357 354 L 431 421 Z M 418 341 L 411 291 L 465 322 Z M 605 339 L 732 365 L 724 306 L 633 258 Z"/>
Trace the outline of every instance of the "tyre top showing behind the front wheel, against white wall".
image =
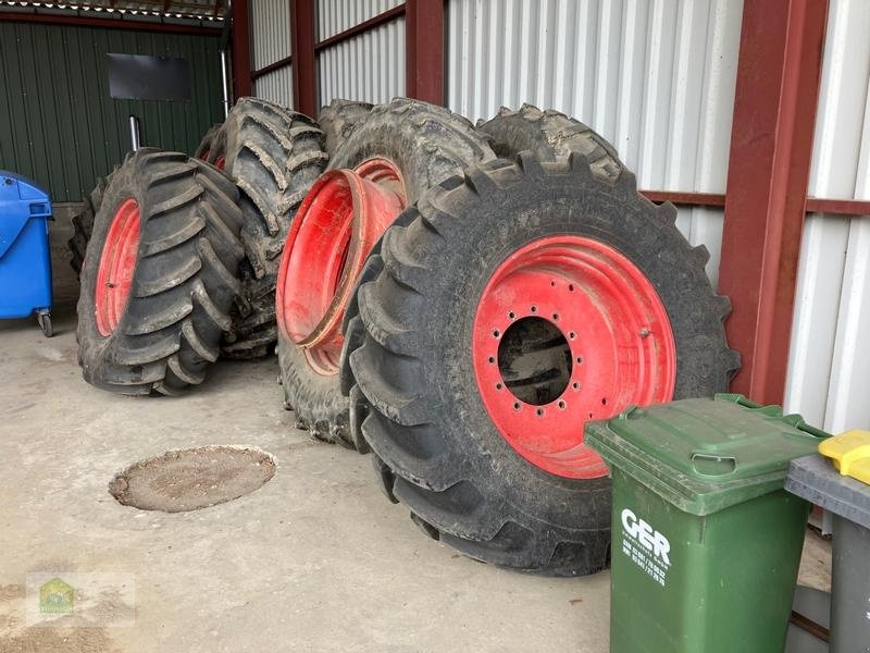
<path id="1" fill-rule="evenodd" d="M 616 182 L 623 170 L 613 146 L 582 122 L 559 111 L 542 111 L 523 104 L 519 111 L 502 107 L 492 120 L 477 128 L 493 138 L 493 149 L 501 159 L 513 159 L 532 151 L 542 161 L 556 161 L 569 153 L 586 157 L 593 174 Z"/>

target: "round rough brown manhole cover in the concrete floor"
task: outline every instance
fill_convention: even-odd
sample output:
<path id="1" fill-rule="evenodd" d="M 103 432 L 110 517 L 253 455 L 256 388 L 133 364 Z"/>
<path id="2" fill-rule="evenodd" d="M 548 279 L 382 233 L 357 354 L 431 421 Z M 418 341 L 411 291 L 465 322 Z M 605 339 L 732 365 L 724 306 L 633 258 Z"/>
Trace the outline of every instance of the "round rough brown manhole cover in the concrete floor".
<path id="1" fill-rule="evenodd" d="M 253 492 L 275 473 L 275 459 L 257 448 L 203 446 L 166 452 L 132 465 L 109 483 L 125 506 L 183 513 Z"/>

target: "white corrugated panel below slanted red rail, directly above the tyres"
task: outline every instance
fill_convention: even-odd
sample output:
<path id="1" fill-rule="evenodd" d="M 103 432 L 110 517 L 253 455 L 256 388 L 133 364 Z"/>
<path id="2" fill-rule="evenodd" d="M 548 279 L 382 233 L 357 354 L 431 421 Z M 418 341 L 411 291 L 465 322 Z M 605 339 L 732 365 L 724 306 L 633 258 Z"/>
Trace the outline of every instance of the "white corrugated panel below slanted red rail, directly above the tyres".
<path id="1" fill-rule="evenodd" d="M 405 95 L 405 19 L 318 53 L 320 103 L 334 98 L 387 102 Z"/>

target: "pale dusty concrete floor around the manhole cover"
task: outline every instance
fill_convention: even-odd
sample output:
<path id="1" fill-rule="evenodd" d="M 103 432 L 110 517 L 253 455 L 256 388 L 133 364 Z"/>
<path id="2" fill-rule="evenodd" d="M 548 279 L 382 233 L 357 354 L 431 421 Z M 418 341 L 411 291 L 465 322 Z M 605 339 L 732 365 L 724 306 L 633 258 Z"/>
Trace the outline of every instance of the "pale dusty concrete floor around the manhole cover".
<path id="1" fill-rule="evenodd" d="M 57 226 L 57 336 L 33 320 L 0 322 L 0 652 L 607 651 L 609 574 L 530 577 L 424 538 L 381 494 L 369 457 L 294 430 L 274 359 L 222 361 L 177 398 L 87 385 L 66 223 Z M 191 513 L 109 495 L 127 465 L 206 444 L 258 446 L 277 472 Z M 801 579 L 824 588 L 830 547 L 808 541 Z M 129 575 L 135 626 L 109 626 L 124 605 L 107 593 L 105 627 L 28 628 L 37 571 Z"/>

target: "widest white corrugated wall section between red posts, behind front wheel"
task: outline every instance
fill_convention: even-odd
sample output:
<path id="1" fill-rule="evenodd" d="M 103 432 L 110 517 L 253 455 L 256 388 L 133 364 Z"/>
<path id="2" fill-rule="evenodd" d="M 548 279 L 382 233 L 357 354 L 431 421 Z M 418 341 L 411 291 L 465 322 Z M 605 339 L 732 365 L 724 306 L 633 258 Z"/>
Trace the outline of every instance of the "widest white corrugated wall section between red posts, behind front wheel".
<path id="1" fill-rule="evenodd" d="M 472 120 L 557 109 L 610 140 L 642 188 L 723 193 L 742 0 L 449 0 L 447 100 Z M 713 283 L 722 211 L 681 208 Z"/>

